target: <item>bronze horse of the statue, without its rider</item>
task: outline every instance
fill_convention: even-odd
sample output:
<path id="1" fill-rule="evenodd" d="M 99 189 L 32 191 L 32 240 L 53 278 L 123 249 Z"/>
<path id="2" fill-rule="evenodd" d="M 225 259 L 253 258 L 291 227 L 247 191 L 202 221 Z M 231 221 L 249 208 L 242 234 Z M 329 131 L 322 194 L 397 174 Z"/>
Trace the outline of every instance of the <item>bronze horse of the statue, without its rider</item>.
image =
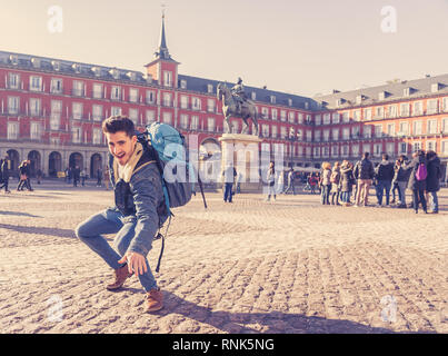
<path id="1" fill-rule="evenodd" d="M 247 100 L 241 105 L 241 112 L 237 112 L 237 102 L 236 99 L 233 98 L 230 89 L 220 82 L 217 87 L 217 97 L 218 100 L 222 100 L 222 112 L 226 118 L 226 134 L 230 134 L 230 117 L 236 117 L 236 118 L 241 118 L 242 121 L 245 122 L 245 126 L 241 130 L 241 134 L 247 134 L 249 131 L 249 123 L 248 119 L 250 118 L 252 120 L 252 123 L 255 125 L 255 134 L 258 137 L 258 119 L 257 119 L 257 108 L 251 100 Z"/>

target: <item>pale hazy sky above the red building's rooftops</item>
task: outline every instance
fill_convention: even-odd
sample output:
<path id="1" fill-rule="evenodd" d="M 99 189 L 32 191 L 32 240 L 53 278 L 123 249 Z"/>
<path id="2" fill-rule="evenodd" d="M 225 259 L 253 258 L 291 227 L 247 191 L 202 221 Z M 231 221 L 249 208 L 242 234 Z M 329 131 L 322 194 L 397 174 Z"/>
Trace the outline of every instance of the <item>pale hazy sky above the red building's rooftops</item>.
<path id="1" fill-rule="evenodd" d="M 448 72 L 448 0 L 0 0 L 0 50 L 143 71 L 162 3 L 181 75 L 312 97 Z"/>

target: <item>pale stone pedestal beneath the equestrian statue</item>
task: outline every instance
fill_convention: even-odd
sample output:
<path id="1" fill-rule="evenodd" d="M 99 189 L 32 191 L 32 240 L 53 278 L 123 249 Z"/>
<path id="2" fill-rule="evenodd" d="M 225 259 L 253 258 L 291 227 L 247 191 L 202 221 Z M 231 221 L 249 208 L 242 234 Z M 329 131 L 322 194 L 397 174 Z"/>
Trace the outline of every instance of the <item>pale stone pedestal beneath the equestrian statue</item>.
<path id="1" fill-rule="evenodd" d="M 259 144 L 262 139 L 253 135 L 223 134 L 219 141 L 222 155 L 221 168 L 233 166 L 237 178 L 238 174 L 242 175 L 241 192 L 260 190 L 262 182 L 259 176 Z"/>

